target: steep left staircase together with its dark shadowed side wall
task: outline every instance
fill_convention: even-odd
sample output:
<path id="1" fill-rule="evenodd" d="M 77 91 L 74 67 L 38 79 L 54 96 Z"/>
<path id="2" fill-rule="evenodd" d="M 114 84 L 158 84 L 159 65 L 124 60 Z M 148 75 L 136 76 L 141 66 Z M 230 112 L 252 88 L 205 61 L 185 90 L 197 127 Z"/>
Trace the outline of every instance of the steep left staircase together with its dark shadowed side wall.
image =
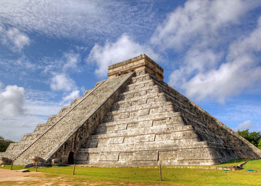
<path id="1" fill-rule="evenodd" d="M 130 75 L 118 76 L 97 85 L 91 94 L 87 94 L 76 105 L 72 105 L 66 114 L 23 150 L 14 159 L 14 163 L 30 163 L 32 156 L 39 156 L 46 161 L 59 158 L 66 163 L 69 152 L 76 153 L 77 149 L 86 143 L 88 135 L 95 130 L 99 121 L 103 121 L 102 115 L 110 108 L 120 93 L 119 88 Z"/>

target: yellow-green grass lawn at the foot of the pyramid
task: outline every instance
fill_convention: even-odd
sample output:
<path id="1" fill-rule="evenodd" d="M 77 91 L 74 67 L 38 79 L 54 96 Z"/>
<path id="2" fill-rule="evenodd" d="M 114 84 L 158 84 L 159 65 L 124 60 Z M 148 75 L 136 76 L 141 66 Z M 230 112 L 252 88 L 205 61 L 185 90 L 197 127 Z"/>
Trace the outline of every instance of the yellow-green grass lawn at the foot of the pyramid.
<path id="1" fill-rule="evenodd" d="M 229 164 L 237 165 L 238 162 Z M 10 169 L 10 165 L 2 168 Z M 22 169 L 23 166 L 14 165 L 13 168 Z M 52 178 L 54 185 L 61 180 L 68 185 L 261 185 L 261 160 L 249 161 L 243 168 L 239 171 L 165 168 L 162 169 L 162 181 L 159 169 L 155 168 L 76 167 L 75 175 L 72 175 L 72 166 L 69 166 L 39 168 L 38 172 L 46 173 L 44 176 L 46 179 Z M 254 171 L 249 172 L 247 169 Z M 35 169 L 30 168 L 30 171 Z M 12 185 L 12 182 L 5 184 Z"/>

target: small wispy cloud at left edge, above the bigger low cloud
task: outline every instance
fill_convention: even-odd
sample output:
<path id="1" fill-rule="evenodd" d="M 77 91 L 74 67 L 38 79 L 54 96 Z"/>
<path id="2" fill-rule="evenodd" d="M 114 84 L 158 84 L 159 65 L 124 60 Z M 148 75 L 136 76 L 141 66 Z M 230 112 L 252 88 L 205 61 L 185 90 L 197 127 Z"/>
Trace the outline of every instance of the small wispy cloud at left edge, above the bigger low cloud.
<path id="1" fill-rule="evenodd" d="M 1 28 L 0 25 L 1 43 L 9 45 L 12 50 L 22 50 L 24 46 L 30 44 L 28 35 L 20 32 L 17 28 Z"/>

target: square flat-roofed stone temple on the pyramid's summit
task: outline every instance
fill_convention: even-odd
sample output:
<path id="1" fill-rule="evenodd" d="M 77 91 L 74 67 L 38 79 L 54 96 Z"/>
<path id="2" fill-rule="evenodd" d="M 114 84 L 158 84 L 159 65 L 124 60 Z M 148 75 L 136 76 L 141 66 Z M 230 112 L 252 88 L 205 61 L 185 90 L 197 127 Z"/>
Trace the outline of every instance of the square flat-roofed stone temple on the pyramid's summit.
<path id="1" fill-rule="evenodd" d="M 160 65 L 146 56 L 146 54 L 141 54 L 139 56 L 133 57 L 132 59 L 110 65 L 108 67 L 108 78 L 127 74 L 135 70 L 147 70 L 151 74 L 155 75 L 158 79 L 162 81 L 164 79 L 163 68 L 161 68 Z"/>

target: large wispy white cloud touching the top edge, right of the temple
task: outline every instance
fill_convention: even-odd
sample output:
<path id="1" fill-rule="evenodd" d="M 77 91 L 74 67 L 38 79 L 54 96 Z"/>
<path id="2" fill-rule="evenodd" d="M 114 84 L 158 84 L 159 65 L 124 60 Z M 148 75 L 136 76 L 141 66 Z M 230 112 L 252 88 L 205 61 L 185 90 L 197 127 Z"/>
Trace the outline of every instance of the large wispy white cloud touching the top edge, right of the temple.
<path id="1" fill-rule="evenodd" d="M 219 41 L 221 28 L 238 23 L 240 17 L 258 3 L 244 0 L 186 1 L 184 6 L 176 8 L 157 27 L 151 43 L 161 48 L 176 50 L 196 43 L 208 45 Z"/>

